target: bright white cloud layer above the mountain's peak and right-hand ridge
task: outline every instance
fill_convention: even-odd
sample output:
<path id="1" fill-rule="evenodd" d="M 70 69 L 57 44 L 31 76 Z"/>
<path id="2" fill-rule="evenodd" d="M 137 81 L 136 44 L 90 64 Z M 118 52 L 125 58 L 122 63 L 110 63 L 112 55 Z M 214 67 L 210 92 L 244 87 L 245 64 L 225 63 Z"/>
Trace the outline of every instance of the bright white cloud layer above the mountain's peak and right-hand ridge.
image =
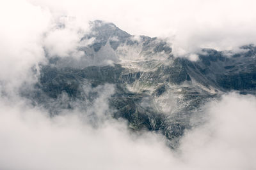
<path id="1" fill-rule="evenodd" d="M 173 50 L 195 52 L 198 47 L 230 50 L 255 43 L 253 0 L 182 1 L 40 1 L 54 15 L 107 20 L 131 34 L 169 37 Z"/>

